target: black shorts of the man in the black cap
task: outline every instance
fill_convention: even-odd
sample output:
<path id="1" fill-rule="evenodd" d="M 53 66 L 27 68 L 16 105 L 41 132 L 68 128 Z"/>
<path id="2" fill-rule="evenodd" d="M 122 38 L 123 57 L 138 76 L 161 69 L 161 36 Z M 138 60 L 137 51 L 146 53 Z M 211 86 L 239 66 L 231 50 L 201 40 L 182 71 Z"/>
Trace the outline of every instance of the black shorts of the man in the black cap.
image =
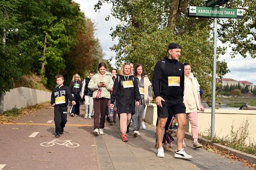
<path id="1" fill-rule="evenodd" d="M 182 98 L 175 101 L 162 101 L 162 106 L 157 106 L 157 117 L 167 118 L 175 116 L 178 113 L 186 113 L 186 106 L 183 103 Z"/>

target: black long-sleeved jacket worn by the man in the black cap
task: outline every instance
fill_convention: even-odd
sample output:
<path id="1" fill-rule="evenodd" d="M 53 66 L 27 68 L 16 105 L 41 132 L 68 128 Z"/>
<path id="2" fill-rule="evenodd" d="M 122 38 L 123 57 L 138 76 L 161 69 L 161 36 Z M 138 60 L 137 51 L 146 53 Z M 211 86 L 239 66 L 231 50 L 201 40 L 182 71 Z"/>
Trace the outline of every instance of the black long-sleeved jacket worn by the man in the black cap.
<path id="1" fill-rule="evenodd" d="M 183 98 L 184 92 L 184 65 L 177 60 L 164 58 L 165 69 L 162 73 L 161 62 L 158 61 L 154 67 L 153 73 L 153 91 L 154 95 L 161 96 L 165 100 L 177 100 Z M 180 86 L 168 86 L 168 76 L 180 77 Z M 161 81 L 161 83 L 160 83 Z M 161 88 L 161 90 L 160 90 Z"/>

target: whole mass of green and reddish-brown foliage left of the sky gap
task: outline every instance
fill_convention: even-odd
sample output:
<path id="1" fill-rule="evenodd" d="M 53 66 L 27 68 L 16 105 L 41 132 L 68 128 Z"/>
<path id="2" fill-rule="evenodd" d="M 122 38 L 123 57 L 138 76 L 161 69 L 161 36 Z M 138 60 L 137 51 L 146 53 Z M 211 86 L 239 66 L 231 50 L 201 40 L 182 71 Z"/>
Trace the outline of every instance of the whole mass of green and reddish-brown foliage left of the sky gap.
<path id="1" fill-rule="evenodd" d="M 12 89 L 14 81 L 29 72 L 40 75 L 41 82 L 52 89 L 55 75 L 84 74 L 104 56 L 93 22 L 72 0 L 0 0 L 3 33 L 9 39 L 0 45 L 0 93 Z M 17 34 L 20 40 L 14 39 Z"/>

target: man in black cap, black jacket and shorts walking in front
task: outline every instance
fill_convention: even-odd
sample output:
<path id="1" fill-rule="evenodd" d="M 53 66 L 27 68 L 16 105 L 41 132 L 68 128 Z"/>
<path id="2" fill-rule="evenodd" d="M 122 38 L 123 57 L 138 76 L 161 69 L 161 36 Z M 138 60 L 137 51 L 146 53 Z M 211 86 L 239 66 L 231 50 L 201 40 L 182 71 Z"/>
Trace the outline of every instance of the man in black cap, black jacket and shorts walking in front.
<path id="1" fill-rule="evenodd" d="M 189 159 L 182 147 L 182 142 L 186 128 L 186 107 L 183 104 L 184 92 L 184 66 L 178 59 L 180 58 L 181 47 L 177 43 L 170 43 L 168 46 L 168 56 L 156 63 L 153 74 L 153 91 L 157 103 L 157 156 L 164 157 L 162 141 L 164 127 L 168 117 L 172 114 L 179 122 L 177 129 L 177 148 L 175 158 Z"/>

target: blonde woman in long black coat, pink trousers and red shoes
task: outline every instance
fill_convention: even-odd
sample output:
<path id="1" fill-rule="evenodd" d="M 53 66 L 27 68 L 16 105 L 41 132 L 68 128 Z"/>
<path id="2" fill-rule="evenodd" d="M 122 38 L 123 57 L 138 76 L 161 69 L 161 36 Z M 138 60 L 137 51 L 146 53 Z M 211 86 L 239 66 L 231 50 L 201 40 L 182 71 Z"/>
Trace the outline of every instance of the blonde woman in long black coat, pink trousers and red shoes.
<path id="1" fill-rule="evenodd" d="M 131 72 L 131 66 L 125 63 L 121 67 L 120 75 L 116 78 L 111 95 L 110 107 L 114 107 L 116 100 L 117 112 L 120 114 L 120 130 L 123 141 L 128 141 L 126 130 L 131 115 L 135 113 L 135 105 L 140 105 L 140 91 L 138 83 Z"/>

